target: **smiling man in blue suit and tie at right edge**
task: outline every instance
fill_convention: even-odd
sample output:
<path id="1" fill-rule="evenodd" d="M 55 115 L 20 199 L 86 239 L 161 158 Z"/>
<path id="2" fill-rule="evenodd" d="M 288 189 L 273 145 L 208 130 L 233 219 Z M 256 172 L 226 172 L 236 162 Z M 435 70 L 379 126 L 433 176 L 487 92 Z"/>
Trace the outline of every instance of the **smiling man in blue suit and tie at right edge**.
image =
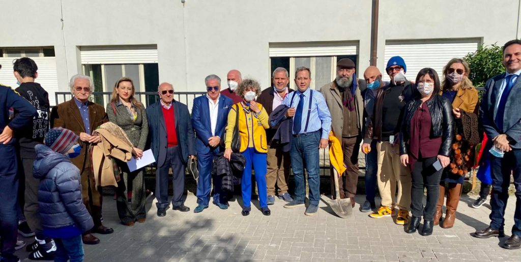
<path id="1" fill-rule="evenodd" d="M 514 176 L 516 207 L 512 236 L 501 247 L 521 247 L 521 40 L 506 42 L 503 46 L 503 65 L 506 72 L 487 81 L 480 104 L 483 129 L 491 149 L 490 170 L 492 198 L 490 226 L 476 231 L 476 238 L 504 237 L 505 207 L 508 200 L 510 175 Z"/>

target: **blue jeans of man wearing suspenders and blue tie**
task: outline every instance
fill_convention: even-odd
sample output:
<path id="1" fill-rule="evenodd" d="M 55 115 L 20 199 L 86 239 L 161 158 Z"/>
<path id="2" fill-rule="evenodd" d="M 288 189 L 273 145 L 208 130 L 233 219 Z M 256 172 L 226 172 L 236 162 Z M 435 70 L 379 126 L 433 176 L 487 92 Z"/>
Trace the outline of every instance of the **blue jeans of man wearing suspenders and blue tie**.
<path id="1" fill-rule="evenodd" d="M 309 185 L 309 204 L 318 205 L 320 200 L 319 152 L 320 131 L 306 135 L 293 136 L 291 140 L 291 168 L 295 176 L 295 200 L 304 202 L 304 163 L 306 163 L 307 182 Z"/>

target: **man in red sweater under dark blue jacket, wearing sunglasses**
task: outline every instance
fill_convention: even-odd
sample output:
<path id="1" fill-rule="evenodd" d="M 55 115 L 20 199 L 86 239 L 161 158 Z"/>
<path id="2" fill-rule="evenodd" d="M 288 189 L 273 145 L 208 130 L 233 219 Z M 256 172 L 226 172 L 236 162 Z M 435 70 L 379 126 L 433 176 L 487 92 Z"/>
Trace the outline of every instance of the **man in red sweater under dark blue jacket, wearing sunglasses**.
<path id="1" fill-rule="evenodd" d="M 157 216 L 165 216 L 168 207 L 168 172 L 172 168 L 172 209 L 190 211 L 184 205 L 184 170 L 188 158 L 195 158 L 194 131 L 186 104 L 173 100 L 173 86 L 158 87 L 160 100 L 146 109 L 148 134 L 156 159 Z"/>

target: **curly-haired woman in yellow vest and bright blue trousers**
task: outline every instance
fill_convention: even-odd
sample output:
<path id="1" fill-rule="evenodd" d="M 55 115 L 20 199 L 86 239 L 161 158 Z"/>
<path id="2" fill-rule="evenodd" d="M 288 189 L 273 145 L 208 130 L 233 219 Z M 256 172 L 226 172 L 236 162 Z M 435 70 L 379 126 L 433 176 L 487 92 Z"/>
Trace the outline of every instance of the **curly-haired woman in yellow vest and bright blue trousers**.
<path id="1" fill-rule="evenodd" d="M 250 215 L 251 211 L 253 165 L 261 211 L 265 216 L 269 216 L 271 212 L 267 204 L 268 195 L 266 190 L 266 158 L 268 152 L 266 129 L 269 128 L 268 113 L 266 113 L 262 104 L 253 101 L 257 95 L 261 94 L 261 85 L 257 81 L 245 79 L 239 84 L 235 93 L 242 97 L 242 101 L 234 104 L 228 113 L 224 156 L 230 160 L 233 128 L 235 127 L 237 114 L 239 114 L 238 125 L 241 139 L 241 149 L 239 151 L 246 159 L 241 179 L 242 200 L 244 202 L 242 215 Z"/>

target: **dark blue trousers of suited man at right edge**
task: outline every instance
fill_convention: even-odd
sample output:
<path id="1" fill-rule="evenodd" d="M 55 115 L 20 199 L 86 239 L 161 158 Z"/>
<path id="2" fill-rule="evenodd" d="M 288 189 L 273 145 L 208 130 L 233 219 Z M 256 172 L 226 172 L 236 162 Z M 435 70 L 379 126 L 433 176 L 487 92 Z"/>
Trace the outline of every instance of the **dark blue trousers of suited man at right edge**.
<path id="1" fill-rule="evenodd" d="M 516 209 L 512 234 L 521 237 L 521 149 L 505 152 L 503 158 L 496 158 L 490 155 L 490 173 L 492 175 L 490 227 L 503 229 L 505 225 L 504 215 L 506 201 L 508 200 L 511 172 L 514 176 L 514 187 L 516 189 Z"/>

